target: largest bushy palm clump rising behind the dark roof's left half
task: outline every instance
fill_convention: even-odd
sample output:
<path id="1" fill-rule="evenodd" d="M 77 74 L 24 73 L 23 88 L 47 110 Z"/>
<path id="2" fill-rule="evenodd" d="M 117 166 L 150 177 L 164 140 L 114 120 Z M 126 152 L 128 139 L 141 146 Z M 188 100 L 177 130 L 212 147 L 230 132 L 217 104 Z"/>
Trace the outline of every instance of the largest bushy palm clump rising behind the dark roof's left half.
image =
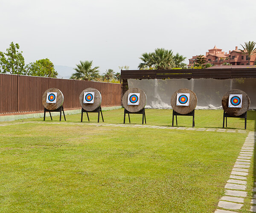
<path id="1" fill-rule="evenodd" d="M 139 64 L 139 69 L 172 69 L 175 67 L 172 50 L 157 48 L 152 53 L 143 53 Z"/>

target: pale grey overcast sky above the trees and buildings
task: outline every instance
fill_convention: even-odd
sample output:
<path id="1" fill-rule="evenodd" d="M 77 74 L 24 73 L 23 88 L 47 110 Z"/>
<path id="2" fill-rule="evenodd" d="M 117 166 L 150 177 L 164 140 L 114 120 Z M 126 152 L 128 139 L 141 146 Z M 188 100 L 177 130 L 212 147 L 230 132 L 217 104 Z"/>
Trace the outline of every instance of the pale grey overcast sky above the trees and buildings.
<path id="1" fill-rule="evenodd" d="M 0 51 L 13 41 L 26 64 L 137 69 L 141 54 L 156 48 L 188 59 L 256 41 L 255 8 L 256 0 L 1 0 Z"/>

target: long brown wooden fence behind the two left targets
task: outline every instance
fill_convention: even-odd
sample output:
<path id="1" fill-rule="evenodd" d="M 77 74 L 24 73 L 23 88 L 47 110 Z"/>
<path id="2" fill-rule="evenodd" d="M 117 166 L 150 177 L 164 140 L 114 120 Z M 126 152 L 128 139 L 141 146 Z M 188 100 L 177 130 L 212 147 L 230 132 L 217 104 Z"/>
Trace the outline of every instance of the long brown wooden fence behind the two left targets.
<path id="1" fill-rule="evenodd" d="M 102 107 L 121 105 L 121 84 L 0 74 L 0 113 L 42 111 L 42 95 L 49 88 L 64 95 L 64 109 L 81 108 L 79 95 L 92 87 L 102 95 Z"/>

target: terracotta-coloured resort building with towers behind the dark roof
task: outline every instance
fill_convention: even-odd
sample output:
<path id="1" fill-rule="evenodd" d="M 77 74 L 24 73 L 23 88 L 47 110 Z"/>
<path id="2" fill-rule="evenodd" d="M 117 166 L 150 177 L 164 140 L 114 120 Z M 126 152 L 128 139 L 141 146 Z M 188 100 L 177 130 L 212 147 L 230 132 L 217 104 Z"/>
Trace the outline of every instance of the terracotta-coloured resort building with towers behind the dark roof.
<path id="1" fill-rule="evenodd" d="M 190 58 L 188 66 L 193 66 L 197 58 L 198 55 Z M 223 52 L 222 49 L 217 48 L 215 45 L 213 49 L 208 49 L 208 52 L 206 52 L 202 58 L 206 60 L 206 63 L 211 63 L 212 65 L 222 65 L 223 63 L 229 65 L 253 65 L 256 60 L 256 55 L 252 55 L 249 62 L 248 56 L 244 55 L 237 46 L 236 49 L 227 53 Z"/>

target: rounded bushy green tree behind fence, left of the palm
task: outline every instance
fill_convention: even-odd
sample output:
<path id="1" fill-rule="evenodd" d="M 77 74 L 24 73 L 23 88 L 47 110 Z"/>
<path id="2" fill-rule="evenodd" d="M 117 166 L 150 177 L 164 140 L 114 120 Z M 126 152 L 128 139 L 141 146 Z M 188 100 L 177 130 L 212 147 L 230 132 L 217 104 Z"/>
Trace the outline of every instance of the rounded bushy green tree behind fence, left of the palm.
<path id="1" fill-rule="evenodd" d="M 58 72 L 54 64 L 48 59 L 40 59 L 26 65 L 27 75 L 57 78 Z"/>

